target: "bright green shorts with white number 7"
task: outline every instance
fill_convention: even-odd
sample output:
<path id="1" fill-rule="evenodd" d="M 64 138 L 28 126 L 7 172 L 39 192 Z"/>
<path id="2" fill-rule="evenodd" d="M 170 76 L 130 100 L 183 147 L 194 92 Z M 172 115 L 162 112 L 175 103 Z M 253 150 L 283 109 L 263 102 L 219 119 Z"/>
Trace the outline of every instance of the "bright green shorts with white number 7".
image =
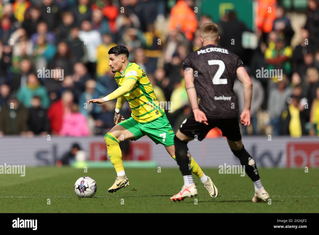
<path id="1" fill-rule="evenodd" d="M 121 121 L 117 125 L 121 125 L 125 129 L 129 130 L 135 136 L 135 139 L 132 140 L 138 140 L 146 135 L 150 137 L 155 144 L 162 144 L 164 146 L 174 145 L 175 134 L 165 113 L 150 122 L 137 122 L 134 118 L 130 117 L 129 119 Z"/>

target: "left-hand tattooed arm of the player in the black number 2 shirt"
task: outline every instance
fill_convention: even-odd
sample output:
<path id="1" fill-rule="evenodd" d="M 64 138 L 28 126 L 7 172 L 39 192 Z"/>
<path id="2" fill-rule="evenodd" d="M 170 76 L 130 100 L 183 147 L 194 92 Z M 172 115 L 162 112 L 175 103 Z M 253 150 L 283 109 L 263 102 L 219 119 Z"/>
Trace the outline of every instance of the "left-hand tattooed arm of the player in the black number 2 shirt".
<path id="1" fill-rule="evenodd" d="M 208 125 L 206 115 L 198 107 L 197 102 L 197 92 L 194 85 L 194 69 L 187 67 L 184 69 L 184 78 L 185 78 L 185 88 L 187 96 L 189 98 L 190 105 L 195 116 L 195 121 L 203 122 L 205 125 Z"/>

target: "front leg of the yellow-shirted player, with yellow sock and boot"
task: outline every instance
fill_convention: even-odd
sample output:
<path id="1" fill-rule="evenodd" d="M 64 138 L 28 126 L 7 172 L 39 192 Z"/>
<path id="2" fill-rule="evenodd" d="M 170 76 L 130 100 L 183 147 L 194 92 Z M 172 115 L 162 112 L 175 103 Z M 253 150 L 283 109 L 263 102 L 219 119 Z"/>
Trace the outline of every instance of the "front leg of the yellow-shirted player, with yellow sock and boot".
<path id="1" fill-rule="evenodd" d="M 135 138 L 135 136 L 121 125 L 115 125 L 104 137 L 106 146 L 108 148 L 108 157 L 114 165 L 117 174 L 116 180 L 108 189 L 108 192 L 113 193 L 120 188 L 130 185 L 129 180 L 125 175 L 122 152 L 119 144 L 122 141 L 133 138 Z"/>

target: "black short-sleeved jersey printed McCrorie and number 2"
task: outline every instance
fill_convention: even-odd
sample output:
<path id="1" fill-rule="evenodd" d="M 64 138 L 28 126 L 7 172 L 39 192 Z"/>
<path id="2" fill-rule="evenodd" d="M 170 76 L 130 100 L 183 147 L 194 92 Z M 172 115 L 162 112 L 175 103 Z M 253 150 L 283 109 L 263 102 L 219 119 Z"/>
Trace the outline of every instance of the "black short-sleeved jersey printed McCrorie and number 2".
<path id="1" fill-rule="evenodd" d="M 183 68 L 194 69 L 199 108 L 207 117 L 238 117 L 233 87 L 236 70 L 241 66 L 237 55 L 214 45 L 204 46 L 185 58 Z"/>

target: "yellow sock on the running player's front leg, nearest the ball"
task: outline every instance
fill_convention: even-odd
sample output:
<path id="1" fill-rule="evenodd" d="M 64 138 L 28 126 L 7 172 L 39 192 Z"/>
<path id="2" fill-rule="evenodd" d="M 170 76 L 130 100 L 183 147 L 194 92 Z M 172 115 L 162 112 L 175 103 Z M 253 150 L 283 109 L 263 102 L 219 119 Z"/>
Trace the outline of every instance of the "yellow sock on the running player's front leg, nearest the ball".
<path id="1" fill-rule="evenodd" d="M 108 157 L 112 162 L 115 171 L 119 172 L 124 170 L 123 161 L 122 161 L 122 151 L 120 148 L 120 141 L 112 135 L 110 132 L 106 133 L 104 136 L 106 146 L 108 148 Z"/>

